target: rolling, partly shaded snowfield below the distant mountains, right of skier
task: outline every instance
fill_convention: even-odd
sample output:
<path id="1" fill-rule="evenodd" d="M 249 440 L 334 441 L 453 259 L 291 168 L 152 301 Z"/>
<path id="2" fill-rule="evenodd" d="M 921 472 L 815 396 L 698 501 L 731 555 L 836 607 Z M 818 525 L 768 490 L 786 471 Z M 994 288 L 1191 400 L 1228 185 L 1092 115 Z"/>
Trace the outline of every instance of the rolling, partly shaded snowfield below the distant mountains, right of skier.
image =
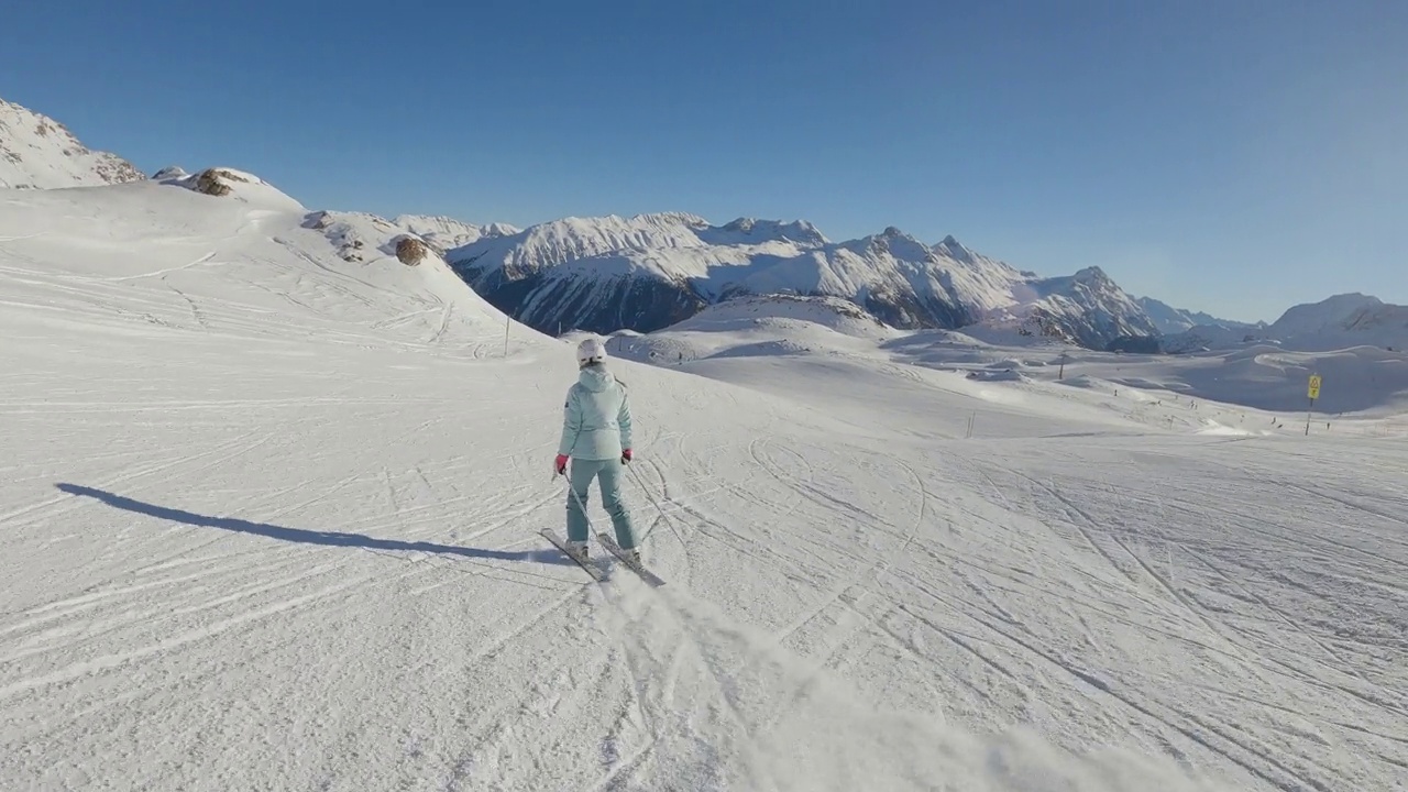
<path id="1" fill-rule="evenodd" d="M 576 335 L 569 335 L 576 338 Z M 1014 333 L 974 326 L 963 331 L 900 331 L 877 323 L 856 306 L 836 297 L 743 297 L 711 306 L 697 316 L 649 334 L 622 331 L 610 338 L 618 355 L 684 371 L 714 371 L 708 361 L 735 358 L 787 358 L 790 362 L 860 364 L 910 386 L 914 369 L 932 369 L 967 380 L 1031 383 L 1024 400 L 1062 399 L 1066 379 L 1101 382 L 1110 392 L 1094 414 L 1083 420 L 1133 421 L 1167 428 L 1208 428 L 1214 413 L 1229 426 L 1253 431 L 1249 410 L 1266 420 L 1286 419 L 1305 409 L 1308 378 L 1324 380 L 1315 413 L 1335 420 L 1381 421 L 1408 413 L 1408 349 L 1350 347 L 1335 351 L 1295 352 L 1270 344 L 1240 344 L 1231 349 L 1181 355 L 1126 355 L 1079 349 L 1053 340 L 1045 342 Z M 736 371 L 725 366 L 727 372 Z M 925 373 L 924 376 L 929 376 Z M 1048 385 L 1042 385 L 1048 383 Z M 967 389 L 967 385 L 959 386 Z M 1124 392 L 1124 397 L 1117 397 Z M 1000 393 L 986 390 L 986 393 Z M 1011 390 L 1008 390 L 1011 393 Z M 1207 409 L 1150 413 L 1149 403 L 1201 400 Z M 1214 409 L 1214 404 L 1221 404 Z M 1067 431 L 1052 421 L 1050 409 L 1039 413 L 1036 434 Z M 1190 423 L 1191 419 L 1191 423 Z M 1408 421 L 1408 414 L 1404 416 Z M 1017 426 L 1017 424 L 1014 424 Z M 1222 424 L 1217 424 L 1222 426 Z"/>

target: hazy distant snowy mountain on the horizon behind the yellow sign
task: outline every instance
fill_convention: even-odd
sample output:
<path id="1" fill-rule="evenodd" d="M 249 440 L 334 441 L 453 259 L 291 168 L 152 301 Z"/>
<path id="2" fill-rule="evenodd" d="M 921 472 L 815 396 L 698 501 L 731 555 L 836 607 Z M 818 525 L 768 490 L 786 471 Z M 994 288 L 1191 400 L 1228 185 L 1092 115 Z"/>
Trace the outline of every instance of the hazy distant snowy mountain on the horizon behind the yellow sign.
<path id="1" fill-rule="evenodd" d="M 1362 345 L 1404 349 L 1408 348 L 1408 306 L 1360 293 L 1336 295 L 1294 306 L 1266 327 L 1200 326 L 1164 338 L 1163 345 L 1170 352 L 1188 352 L 1267 342 L 1304 352 Z"/>

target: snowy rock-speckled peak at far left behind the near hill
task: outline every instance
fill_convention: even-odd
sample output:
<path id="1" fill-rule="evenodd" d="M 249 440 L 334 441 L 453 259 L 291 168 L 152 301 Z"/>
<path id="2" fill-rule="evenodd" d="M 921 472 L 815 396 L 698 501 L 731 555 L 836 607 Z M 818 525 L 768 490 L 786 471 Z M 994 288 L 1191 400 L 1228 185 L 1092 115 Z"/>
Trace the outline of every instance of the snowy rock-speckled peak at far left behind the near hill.
<path id="1" fill-rule="evenodd" d="M 0 99 L 0 187 L 77 187 L 142 179 L 131 162 L 89 151 L 63 124 Z"/>

